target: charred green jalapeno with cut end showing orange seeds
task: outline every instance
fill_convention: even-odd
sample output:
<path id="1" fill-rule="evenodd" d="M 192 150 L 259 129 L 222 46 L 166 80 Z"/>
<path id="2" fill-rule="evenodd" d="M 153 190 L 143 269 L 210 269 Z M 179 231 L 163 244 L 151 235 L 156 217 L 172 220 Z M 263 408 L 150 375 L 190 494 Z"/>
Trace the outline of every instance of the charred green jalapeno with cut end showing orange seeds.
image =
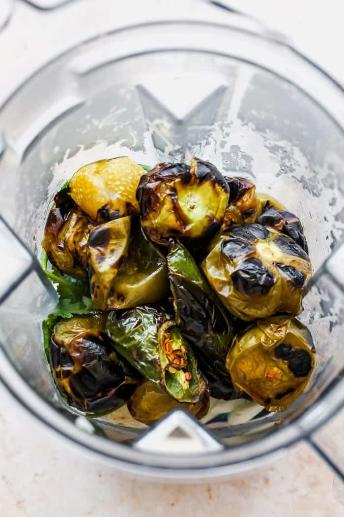
<path id="1" fill-rule="evenodd" d="M 107 332 L 116 351 L 179 402 L 195 404 L 207 383 L 190 345 L 170 316 L 152 307 L 110 312 Z"/>

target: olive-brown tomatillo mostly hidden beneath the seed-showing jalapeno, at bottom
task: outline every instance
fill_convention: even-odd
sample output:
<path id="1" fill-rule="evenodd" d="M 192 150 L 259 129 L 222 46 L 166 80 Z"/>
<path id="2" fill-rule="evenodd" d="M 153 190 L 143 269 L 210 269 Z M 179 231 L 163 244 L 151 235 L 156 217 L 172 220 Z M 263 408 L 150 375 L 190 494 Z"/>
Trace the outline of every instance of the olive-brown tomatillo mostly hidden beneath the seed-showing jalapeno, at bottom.
<path id="1" fill-rule="evenodd" d="M 201 419 L 209 409 L 209 393 L 205 391 L 204 396 L 195 404 L 177 402 L 165 391 L 151 381 L 143 381 L 138 385 L 127 406 L 135 420 L 151 425 L 176 407 L 187 409 L 196 418 Z"/>

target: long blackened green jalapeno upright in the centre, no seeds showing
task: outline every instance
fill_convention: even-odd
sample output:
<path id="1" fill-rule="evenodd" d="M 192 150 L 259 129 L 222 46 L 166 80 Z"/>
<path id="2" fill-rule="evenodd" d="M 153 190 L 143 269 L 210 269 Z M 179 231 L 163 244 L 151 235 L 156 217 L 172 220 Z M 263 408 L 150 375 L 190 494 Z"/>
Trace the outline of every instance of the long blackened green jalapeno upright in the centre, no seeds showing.
<path id="1" fill-rule="evenodd" d="M 176 321 L 193 348 L 212 397 L 230 399 L 234 390 L 225 368 L 232 343 L 231 322 L 188 250 L 176 242 L 167 257 Z"/>

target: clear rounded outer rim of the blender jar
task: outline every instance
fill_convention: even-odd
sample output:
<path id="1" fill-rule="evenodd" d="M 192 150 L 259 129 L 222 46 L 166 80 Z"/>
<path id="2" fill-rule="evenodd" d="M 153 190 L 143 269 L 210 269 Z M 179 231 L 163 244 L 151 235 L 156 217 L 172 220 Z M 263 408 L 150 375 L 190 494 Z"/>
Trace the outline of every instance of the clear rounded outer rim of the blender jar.
<path id="1" fill-rule="evenodd" d="M 161 22 L 146 22 L 142 24 L 135 24 L 133 26 L 121 27 L 120 29 L 115 29 L 113 33 L 126 31 L 131 28 L 146 27 L 157 24 L 161 25 L 164 23 L 183 24 L 190 23 L 190 21 L 167 20 Z M 321 72 L 324 78 L 339 88 L 341 94 L 344 92 L 344 89 L 337 81 L 331 78 L 331 76 L 322 70 L 321 67 L 314 64 L 312 60 L 302 55 L 298 50 L 294 49 L 290 43 L 272 36 L 269 37 L 269 35 L 264 35 L 261 33 L 257 34 L 250 31 L 249 29 L 243 29 L 242 27 L 231 26 L 228 24 L 218 24 L 214 22 L 202 21 L 195 21 L 194 24 L 221 26 L 225 29 L 233 29 L 249 36 L 268 40 L 272 44 L 283 45 L 289 51 L 292 51 L 298 59 L 304 60 L 305 63 Z M 106 33 L 105 36 L 108 34 L 111 33 Z M 40 72 L 45 70 L 51 64 L 55 63 L 62 56 L 67 55 L 71 51 L 98 38 L 99 36 L 95 36 L 89 40 L 80 42 L 73 48 L 61 53 L 59 56 L 54 57 L 50 62 L 45 64 L 38 71 L 34 72 L 15 90 L 15 92 L 10 95 L 10 97 L 7 98 L 3 106 L 0 108 L 0 114 L 1 110 L 6 108 L 8 102 L 10 102 L 10 100 L 12 100 L 12 98 L 14 98 L 20 92 L 21 88 L 25 84 L 29 83 L 32 78 L 37 77 Z M 201 52 L 203 52 L 203 50 L 201 50 Z M 224 55 L 228 56 L 228 54 Z M 272 71 L 272 73 L 275 72 Z M 306 94 L 309 96 L 308 92 L 306 92 Z M 324 107 L 322 107 L 322 109 L 326 111 Z M 341 131 L 344 131 L 343 126 L 338 121 L 336 121 L 333 114 L 327 113 L 327 111 L 326 114 L 331 116 L 331 118 L 336 122 L 337 126 L 340 127 Z M 39 265 L 36 267 L 39 267 Z M 336 412 L 336 410 L 338 410 L 339 407 L 342 406 L 344 402 L 344 379 L 337 377 L 329 385 L 329 387 L 327 387 L 326 391 L 321 395 L 317 402 L 313 403 L 309 408 L 307 408 L 304 413 L 298 415 L 291 423 L 286 425 L 286 427 L 275 430 L 274 432 L 270 432 L 267 435 L 260 437 L 259 439 L 253 440 L 249 444 L 234 445 L 231 446 L 231 448 L 222 450 L 217 453 L 200 454 L 197 457 L 179 454 L 174 455 L 173 457 L 167 457 L 164 454 L 157 453 L 155 454 L 155 457 L 152 458 L 151 453 L 138 451 L 137 449 L 129 448 L 120 443 L 111 442 L 107 438 L 105 439 L 99 436 L 95 437 L 92 434 L 87 434 L 83 431 L 80 431 L 76 425 L 68 421 L 67 418 L 58 414 L 49 403 L 47 403 L 41 396 L 39 396 L 28 384 L 26 384 L 19 372 L 15 370 L 11 364 L 9 358 L 6 357 L 4 350 L 0 351 L 0 359 L 3 363 L 3 367 L 0 371 L 0 378 L 2 378 L 3 383 L 13 394 L 13 396 L 17 398 L 17 400 L 24 407 L 26 407 L 26 409 L 31 414 L 34 414 L 40 421 L 44 422 L 49 428 L 57 431 L 60 435 L 63 435 L 64 437 L 72 440 L 73 443 L 86 448 L 88 451 L 101 454 L 104 459 L 107 461 L 111 460 L 112 463 L 114 462 L 114 464 L 119 466 L 121 469 L 127 470 L 130 473 L 143 473 L 148 476 L 154 476 L 158 473 L 160 475 L 161 472 L 165 471 L 169 478 L 173 477 L 175 479 L 188 479 L 190 477 L 213 478 L 231 473 L 233 468 L 235 471 L 237 471 L 239 465 L 241 465 L 243 468 L 245 466 L 252 466 L 256 460 L 260 461 L 262 457 L 268 457 L 268 455 L 276 452 L 277 450 L 289 447 L 290 445 L 296 443 L 298 440 L 305 438 L 307 435 L 320 427 L 320 425 L 326 422 L 329 418 L 331 418 L 331 416 Z M 169 465 L 166 465 L 167 458 Z M 185 467 L 181 467 L 181 464 L 183 463 Z"/>

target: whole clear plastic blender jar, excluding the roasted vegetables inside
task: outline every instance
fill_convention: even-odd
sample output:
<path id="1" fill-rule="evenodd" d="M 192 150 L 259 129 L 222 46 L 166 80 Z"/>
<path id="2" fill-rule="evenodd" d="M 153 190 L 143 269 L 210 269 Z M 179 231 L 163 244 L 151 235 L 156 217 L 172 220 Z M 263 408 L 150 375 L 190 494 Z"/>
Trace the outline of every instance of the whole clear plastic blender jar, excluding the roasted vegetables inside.
<path id="1" fill-rule="evenodd" d="M 178 481 L 237 472 L 302 438 L 326 457 L 311 434 L 344 401 L 343 90 L 256 22 L 197 7 L 176 16 L 182 0 L 173 10 L 146 2 L 144 14 L 128 12 L 54 58 L 0 112 L 0 376 L 75 446 L 128 473 Z M 124 155 L 152 166 L 209 160 L 300 217 L 315 273 L 300 319 L 317 365 L 284 413 L 218 401 L 202 423 L 177 409 L 148 429 L 121 409 L 87 419 L 57 395 L 41 331 L 57 298 L 39 265 L 45 220 L 81 165 Z"/>

